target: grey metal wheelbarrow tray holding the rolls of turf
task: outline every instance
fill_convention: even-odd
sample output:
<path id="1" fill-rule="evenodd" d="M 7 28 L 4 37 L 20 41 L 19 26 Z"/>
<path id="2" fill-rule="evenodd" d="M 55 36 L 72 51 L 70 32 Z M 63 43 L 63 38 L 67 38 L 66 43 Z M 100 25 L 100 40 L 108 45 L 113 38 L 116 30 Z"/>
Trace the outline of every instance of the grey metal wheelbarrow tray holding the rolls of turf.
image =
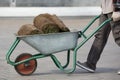
<path id="1" fill-rule="evenodd" d="M 77 45 L 78 32 L 62 32 L 17 36 L 41 54 L 53 54 L 74 49 Z"/>

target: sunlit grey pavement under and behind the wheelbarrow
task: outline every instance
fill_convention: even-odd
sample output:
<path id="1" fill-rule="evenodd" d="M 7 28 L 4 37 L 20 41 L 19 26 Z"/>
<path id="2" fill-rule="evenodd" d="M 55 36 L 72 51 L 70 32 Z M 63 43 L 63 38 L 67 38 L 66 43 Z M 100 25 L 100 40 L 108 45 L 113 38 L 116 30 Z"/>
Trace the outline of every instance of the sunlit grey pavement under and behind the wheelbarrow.
<path id="1" fill-rule="evenodd" d="M 61 20 L 71 30 L 81 30 L 86 26 L 93 17 L 74 17 L 64 18 Z M 120 69 L 120 49 L 113 40 L 112 34 L 110 34 L 107 45 L 101 55 L 99 62 L 97 63 L 97 69 L 95 73 L 88 73 L 87 71 L 76 67 L 76 70 L 72 74 L 66 74 L 60 71 L 52 62 L 51 58 L 38 59 L 38 66 L 36 71 L 30 76 L 19 75 L 14 66 L 7 64 L 5 56 L 14 42 L 19 28 L 23 24 L 33 24 L 33 17 L 31 18 L 0 18 L 0 80 L 120 80 L 120 75 L 117 75 L 117 71 Z M 87 34 L 98 26 L 98 21 L 93 24 Z M 92 45 L 94 37 L 87 41 L 79 50 L 77 54 L 77 60 L 86 61 L 88 52 Z M 78 41 L 80 43 L 81 40 Z M 24 42 L 20 42 L 17 48 L 11 55 L 11 59 L 15 58 L 21 53 L 37 53 L 36 50 L 31 48 Z M 66 62 L 66 52 L 56 53 L 55 55 L 61 61 Z M 71 54 L 72 57 L 72 54 Z M 71 58 L 72 59 L 72 58 Z M 72 60 L 70 62 L 71 67 Z"/>

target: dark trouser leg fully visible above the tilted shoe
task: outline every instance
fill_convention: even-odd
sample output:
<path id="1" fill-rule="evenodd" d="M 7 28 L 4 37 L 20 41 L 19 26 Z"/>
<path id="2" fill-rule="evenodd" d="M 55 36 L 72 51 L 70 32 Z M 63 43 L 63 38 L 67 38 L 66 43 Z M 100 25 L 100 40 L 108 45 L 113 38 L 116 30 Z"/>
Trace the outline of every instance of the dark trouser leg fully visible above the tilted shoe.
<path id="1" fill-rule="evenodd" d="M 101 14 L 100 16 L 100 24 L 105 21 L 108 18 L 111 18 L 112 13 L 109 14 Z M 113 36 L 114 36 L 114 25 L 115 23 L 111 21 L 110 23 L 107 23 L 105 26 L 103 26 L 96 34 L 95 34 L 95 40 L 92 44 L 92 47 L 90 49 L 90 52 L 87 57 L 87 64 L 92 69 L 96 69 L 96 64 L 98 60 L 100 59 L 101 53 L 107 43 L 108 36 L 110 34 L 110 31 L 112 30 Z"/>

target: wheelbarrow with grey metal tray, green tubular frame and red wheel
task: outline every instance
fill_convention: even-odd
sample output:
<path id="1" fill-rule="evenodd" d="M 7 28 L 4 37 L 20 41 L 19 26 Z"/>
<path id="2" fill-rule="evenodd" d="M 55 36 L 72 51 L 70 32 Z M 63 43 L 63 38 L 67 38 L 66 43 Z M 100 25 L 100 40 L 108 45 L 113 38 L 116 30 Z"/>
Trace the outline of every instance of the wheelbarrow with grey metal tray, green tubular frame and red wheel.
<path id="1" fill-rule="evenodd" d="M 76 69 L 76 58 L 77 51 L 81 48 L 98 30 L 100 30 L 106 23 L 110 22 L 112 19 L 105 20 L 102 24 L 93 30 L 88 36 L 85 35 L 85 32 L 88 28 L 97 20 L 100 16 L 96 16 L 91 20 L 91 22 L 81 31 L 76 32 L 62 32 L 62 33 L 49 33 L 49 34 L 36 34 L 36 35 L 25 35 L 17 36 L 6 54 L 7 63 L 14 66 L 16 72 L 20 75 L 31 75 L 37 68 L 36 59 L 51 57 L 55 65 L 65 73 L 72 73 Z M 78 43 L 78 39 L 83 38 L 83 40 Z M 20 54 L 15 61 L 10 59 L 12 52 L 17 47 L 20 40 L 23 40 L 25 43 L 29 44 L 31 47 L 36 49 L 39 53 L 29 54 L 23 53 Z M 54 55 L 55 53 L 67 51 L 67 61 L 64 65 L 61 65 L 60 61 Z M 73 51 L 72 56 L 72 68 L 68 68 L 70 63 L 70 52 Z"/>

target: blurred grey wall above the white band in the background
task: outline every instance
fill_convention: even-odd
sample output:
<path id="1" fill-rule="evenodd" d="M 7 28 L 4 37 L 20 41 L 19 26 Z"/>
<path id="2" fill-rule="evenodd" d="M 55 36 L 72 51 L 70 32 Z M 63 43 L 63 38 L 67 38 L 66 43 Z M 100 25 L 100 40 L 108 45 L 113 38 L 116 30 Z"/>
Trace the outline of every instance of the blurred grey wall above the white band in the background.
<path id="1" fill-rule="evenodd" d="M 17 7 L 60 7 L 60 6 L 99 6 L 100 0 L 0 0 L 0 7 L 10 6 L 16 2 Z"/>

